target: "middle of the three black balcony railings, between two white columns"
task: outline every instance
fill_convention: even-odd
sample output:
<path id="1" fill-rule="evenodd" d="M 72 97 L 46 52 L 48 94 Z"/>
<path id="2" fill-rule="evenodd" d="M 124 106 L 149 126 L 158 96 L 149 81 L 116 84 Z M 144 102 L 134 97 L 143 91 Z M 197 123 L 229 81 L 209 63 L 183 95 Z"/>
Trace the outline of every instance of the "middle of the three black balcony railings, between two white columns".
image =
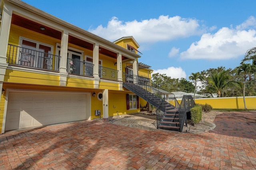
<path id="1" fill-rule="evenodd" d="M 67 60 L 67 71 L 82 76 L 93 76 L 93 64 L 74 59 Z"/>

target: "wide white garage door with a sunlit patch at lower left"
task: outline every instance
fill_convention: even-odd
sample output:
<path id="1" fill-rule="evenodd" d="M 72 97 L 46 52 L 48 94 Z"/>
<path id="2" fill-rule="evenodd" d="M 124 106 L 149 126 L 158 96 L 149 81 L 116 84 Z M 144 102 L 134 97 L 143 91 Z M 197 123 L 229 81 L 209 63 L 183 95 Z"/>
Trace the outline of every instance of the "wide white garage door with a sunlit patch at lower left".
<path id="1" fill-rule="evenodd" d="M 86 119 L 86 94 L 10 92 L 5 130 Z"/>

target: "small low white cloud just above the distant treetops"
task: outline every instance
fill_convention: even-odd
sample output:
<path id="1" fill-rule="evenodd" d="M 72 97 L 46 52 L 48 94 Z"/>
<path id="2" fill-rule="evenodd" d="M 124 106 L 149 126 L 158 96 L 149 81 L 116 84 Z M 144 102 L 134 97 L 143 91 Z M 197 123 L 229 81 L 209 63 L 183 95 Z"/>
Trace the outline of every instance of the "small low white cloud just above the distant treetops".
<path id="1" fill-rule="evenodd" d="M 186 72 L 181 67 L 158 69 L 153 71 L 153 74 L 155 73 L 166 74 L 166 76 L 171 78 L 186 78 Z"/>

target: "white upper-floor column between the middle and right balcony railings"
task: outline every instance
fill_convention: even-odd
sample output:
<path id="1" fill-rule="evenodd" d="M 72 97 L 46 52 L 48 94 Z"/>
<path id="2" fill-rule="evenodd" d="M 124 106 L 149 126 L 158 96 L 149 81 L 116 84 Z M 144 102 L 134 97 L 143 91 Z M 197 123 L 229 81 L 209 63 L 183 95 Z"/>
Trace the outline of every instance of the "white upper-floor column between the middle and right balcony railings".
<path id="1" fill-rule="evenodd" d="M 99 88 L 100 77 L 99 77 L 99 45 L 93 45 L 93 76 L 94 76 L 94 88 Z"/>

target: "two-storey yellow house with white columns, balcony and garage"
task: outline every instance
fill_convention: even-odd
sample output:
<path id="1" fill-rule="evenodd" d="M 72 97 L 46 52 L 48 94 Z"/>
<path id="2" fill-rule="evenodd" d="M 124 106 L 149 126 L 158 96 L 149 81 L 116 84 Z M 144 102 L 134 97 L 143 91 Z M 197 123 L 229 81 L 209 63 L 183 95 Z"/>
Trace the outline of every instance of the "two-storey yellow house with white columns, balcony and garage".
<path id="1" fill-rule="evenodd" d="M 107 41 L 20 0 L 0 1 L 0 131 L 136 113 L 150 82 L 132 37 Z"/>

